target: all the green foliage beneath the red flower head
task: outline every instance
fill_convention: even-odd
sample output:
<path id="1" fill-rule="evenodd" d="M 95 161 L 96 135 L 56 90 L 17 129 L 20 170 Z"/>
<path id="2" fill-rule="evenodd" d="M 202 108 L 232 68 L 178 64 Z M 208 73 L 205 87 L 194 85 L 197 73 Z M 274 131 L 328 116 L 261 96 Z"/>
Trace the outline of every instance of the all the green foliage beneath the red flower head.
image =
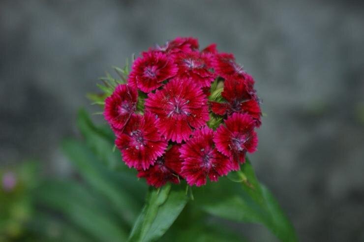
<path id="1" fill-rule="evenodd" d="M 297 241 L 292 224 L 248 160 L 241 171 L 206 186 L 188 187 L 182 181 L 148 191 L 146 182 L 123 164 L 120 152 L 113 151 L 115 137 L 108 126 L 94 125 L 84 110 L 77 124 L 83 139 L 62 144 L 77 176 L 49 178 L 28 189 L 37 205 L 27 227 L 33 241 L 247 241 L 220 218 L 259 223 L 280 241 Z"/>

